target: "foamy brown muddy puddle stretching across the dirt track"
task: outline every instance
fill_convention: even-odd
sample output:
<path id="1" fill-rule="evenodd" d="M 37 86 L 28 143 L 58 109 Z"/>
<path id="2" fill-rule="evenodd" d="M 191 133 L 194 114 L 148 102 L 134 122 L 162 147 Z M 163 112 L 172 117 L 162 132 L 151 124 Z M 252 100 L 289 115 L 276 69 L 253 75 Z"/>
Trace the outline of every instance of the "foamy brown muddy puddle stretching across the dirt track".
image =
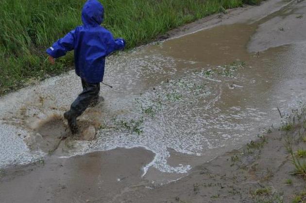
<path id="1" fill-rule="evenodd" d="M 142 147 L 154 153 L 142 176 L 166 183 L 278 126 L 277 107 L 285 113 L 306 100 L 306 43 L 248 52 L 258 26 L 273 18 L 221 25 L 108 58 L 104 82 L 114 88 L 102 87 L 105 100 L 79 118 L 88 129 L 84 136 L 94 139 L 63 142 L 52 155 Z M 0 152 L 8 153 L 0 165 L 48 154 L 67 125 L 61 116 L 46 119 L 62 115 L 80 91 L 71 72 L 1 98 Z M 37 120 L 40 126 L 30 129 Z"/>

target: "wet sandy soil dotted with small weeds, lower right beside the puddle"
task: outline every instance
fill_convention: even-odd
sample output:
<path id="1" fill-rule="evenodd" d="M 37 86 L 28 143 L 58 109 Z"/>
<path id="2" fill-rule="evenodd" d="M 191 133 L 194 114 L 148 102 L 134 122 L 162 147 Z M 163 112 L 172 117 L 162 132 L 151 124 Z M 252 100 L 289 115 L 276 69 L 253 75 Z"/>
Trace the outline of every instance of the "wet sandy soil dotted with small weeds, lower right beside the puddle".
<path id="1" fill-rule="evenodd" d="M 114 202 L 291 203 L 304 192 L 305 179 L 293 175 L 295 167 L 288 148 L 291 145 L 296 152 L 306 147 L 301 140 L 305 129 L 297 126 L 289 132 L 272 130 L 243 148 L 195 167 L 187 177 L 126 192 Z"/>

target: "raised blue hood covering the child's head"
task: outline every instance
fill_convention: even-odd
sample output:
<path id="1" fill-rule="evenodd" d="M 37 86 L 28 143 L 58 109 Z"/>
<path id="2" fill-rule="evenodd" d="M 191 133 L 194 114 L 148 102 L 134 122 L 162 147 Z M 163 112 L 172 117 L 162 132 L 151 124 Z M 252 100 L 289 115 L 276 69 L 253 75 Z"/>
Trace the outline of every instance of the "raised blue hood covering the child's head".
<path id="1" fill-rule="evenodd" d="M 104 8 L 98 0 L 87 0 L 82 10 L 84 25 L 98 26 L 103 22 Z"/>

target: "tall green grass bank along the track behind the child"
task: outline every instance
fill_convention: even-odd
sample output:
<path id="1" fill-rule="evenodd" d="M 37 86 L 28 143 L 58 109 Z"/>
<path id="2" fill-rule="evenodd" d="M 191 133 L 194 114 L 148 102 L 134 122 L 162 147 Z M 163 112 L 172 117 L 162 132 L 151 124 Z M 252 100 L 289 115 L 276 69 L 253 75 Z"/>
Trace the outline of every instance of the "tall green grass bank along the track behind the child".
<path id="1" fill-rule="evenodd" d="M 103 26 L 124 37 L 127 48 L 153 40 L 184 23 L 243 3 L 261 0 L 120 0 L 102 1 Z M 0 95 L 31 81 L 72 68 L 72 53 L 55 66 L 45 49 L 81 24 L 85 0 L 3 0 L 0 4 Z"/>

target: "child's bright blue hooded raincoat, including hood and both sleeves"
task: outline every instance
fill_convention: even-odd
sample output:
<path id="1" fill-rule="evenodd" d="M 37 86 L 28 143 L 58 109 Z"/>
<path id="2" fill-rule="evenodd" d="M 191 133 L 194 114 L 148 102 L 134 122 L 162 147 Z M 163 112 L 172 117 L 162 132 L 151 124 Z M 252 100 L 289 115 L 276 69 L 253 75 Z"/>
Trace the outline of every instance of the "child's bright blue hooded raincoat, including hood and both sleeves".
<path id="1" fill-rule="evenodd" d="M 125 46 L 124 39 L 114 39 L 100 26 L 103 15 L 104 8 L 98 0 L 87 0 L 82 10 L 83 25 L 70 31 L 46 51 L 58 58 L 74 50 L 75 72 L 88 83 L 102 82 L 105 57 Z"/>

